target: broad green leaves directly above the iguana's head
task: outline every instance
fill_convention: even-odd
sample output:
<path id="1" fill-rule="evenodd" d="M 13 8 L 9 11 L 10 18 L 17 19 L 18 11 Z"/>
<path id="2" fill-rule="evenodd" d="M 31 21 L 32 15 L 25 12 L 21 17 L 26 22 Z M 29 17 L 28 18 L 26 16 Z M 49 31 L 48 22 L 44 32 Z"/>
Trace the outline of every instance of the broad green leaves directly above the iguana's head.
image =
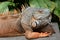
<path id="1" fill-rule="evenodd" d="M 50 11 L 55 8 L 55 3 L 50 0 L 30 0 L 29 3 L 31 7 L 48 8 Z"/>

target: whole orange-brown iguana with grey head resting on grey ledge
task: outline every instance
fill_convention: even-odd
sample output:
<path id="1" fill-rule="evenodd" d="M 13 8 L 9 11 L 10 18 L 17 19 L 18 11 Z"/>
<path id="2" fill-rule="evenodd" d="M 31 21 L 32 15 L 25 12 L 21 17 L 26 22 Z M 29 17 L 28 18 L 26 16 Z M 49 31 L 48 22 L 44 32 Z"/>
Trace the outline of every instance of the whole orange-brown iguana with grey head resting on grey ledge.
<path id="1" fill-rule="evenodd" d="M 25 35 L 26 38 L 49 36 L 54 32 L 52 27 L 46 26 L 50 25 L 50 17 L 48 9 L 31 7 L 26 8 L 21 14 L 0 16 L 0 36 Z M 38 29 L 40 32 L 36 31 Z"/>

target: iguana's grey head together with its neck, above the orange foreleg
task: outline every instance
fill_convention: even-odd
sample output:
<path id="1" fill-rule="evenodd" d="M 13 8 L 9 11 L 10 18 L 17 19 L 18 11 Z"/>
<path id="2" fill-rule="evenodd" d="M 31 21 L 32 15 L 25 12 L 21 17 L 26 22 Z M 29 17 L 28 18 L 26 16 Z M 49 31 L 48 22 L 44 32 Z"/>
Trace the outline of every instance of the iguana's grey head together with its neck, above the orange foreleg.
<path id="1" fill-rule="evenodd" d="M 30 25 L 32 27 L 41 26 L 49 23 L 49 9 L 39 9 L 28 7 L 22 12 L 21 24 Z M 30 27 L 28 26 L 28 27 Z"/>

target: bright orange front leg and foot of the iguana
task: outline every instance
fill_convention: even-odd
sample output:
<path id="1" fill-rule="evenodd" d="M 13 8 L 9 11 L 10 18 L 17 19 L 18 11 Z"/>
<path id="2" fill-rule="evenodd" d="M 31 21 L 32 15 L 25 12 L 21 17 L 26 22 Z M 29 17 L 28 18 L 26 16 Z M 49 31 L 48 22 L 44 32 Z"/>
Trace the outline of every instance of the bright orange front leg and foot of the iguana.
<path id="1" fill-rule="evenodd" d="M 27 32 L 25 33 L 25 37 L 28 39 L 33 39 L 33 38 L 40 38 L 40 37 L 47 37 L 51 35 L 51 33 L 39 33 L 39 32 Z"/>

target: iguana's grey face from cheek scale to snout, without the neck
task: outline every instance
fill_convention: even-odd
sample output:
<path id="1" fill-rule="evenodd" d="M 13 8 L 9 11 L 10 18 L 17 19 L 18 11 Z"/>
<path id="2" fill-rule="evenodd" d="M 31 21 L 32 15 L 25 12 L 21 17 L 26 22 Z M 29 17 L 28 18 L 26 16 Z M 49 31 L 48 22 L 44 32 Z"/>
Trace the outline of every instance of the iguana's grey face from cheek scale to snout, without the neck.
<path id="1" fill-rule="evenodd" d="M 49 9 L 37 9 L 32 18 L 32 27 L 46 25 L 51 21 Z"/>

